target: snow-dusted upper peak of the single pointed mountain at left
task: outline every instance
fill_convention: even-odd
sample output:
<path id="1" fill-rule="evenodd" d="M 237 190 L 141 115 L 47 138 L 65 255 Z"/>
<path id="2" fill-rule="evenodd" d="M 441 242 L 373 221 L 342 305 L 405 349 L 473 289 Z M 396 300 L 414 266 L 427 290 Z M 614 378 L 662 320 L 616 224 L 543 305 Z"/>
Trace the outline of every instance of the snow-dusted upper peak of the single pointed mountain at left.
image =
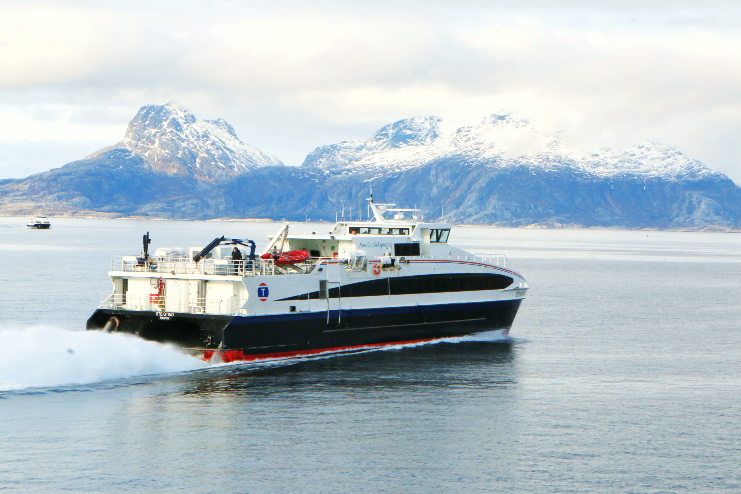
<path id="1" fill-rule="evenodd" d="M 224 119 L 198 120 L 190 111 L 170 103 L 142 107 L 118 144 L 86 159 L 121 148 L 142 156 L 153 171 L 193 176 L 207 182 L 282 165 L 270 153 L 240 141 Z"/>

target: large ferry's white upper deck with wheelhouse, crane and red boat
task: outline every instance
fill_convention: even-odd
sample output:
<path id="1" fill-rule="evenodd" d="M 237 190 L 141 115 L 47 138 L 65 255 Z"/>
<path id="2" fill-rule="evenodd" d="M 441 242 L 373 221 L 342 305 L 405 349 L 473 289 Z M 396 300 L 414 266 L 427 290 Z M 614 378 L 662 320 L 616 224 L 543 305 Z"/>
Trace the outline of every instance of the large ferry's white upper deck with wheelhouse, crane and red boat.
<path id="1" fill-rule="evenodd" d="M 397 258 L 399 261 L 447 259 L 508 267 L 507 258 L 502 254 L 471 254 L 448 244 L 451 224 L 419 221 L 416 216 L 405 218 L 405 212 L 416 210 L 392 209 L 390 206 L 393 204 L 375 204 L 371 200 L 371 221 L 338 221 L 326 234 L 289 235 L 289 224 L 284 224 L 275 236 L 268 236 L 270 242 L 262 252 L 307 251 L 310 257 L 296 264 L 276 264 L 272 258 L 259 258 L 255 256 L 254 241 L 224 237 L 216 238 L 205 248 L 190 247 L 189 253 L 180 248 L 161 247 L 155 256 L 149 256 L 147 233 L 142 256 L 114 256 L 110 275 L 151 276 L 150 273 L 159 273 L 164 277 L 169 274 L 207 279 L 214 276 L 308 274 L 321 264 L 348 264 L 358 257 L 371 264 L 374 259 L 382 258 Z M 395 212 L 393 219 L 385 218 L 389 212 Z M 250 247 L 249 254 L 245 247 Z M 232 259 L 233 248 L 240 250 L 242 260 Z M 250 256 L 253 259 L 250 260 Z M 352 267 L 348 265 L 348 269 Z"/>

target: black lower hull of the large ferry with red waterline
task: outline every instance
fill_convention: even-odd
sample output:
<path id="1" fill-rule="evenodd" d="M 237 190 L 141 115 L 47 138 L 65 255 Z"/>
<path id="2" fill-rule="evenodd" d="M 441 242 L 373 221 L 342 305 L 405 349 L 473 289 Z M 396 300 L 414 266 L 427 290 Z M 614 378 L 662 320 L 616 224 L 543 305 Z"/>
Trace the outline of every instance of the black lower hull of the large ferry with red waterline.
<path id="1" fill-rule="evenodd" d="M 213 350 L 236 351 L 235 358 L 288 356 L 508 328 L 521 302 L 519 298 L 245 317 L 99 309 L 87 321 L 87 329 L 102 329 L 111 318 L 116 318 L 109 329 L 206 351 L 207 356 Z"/>

